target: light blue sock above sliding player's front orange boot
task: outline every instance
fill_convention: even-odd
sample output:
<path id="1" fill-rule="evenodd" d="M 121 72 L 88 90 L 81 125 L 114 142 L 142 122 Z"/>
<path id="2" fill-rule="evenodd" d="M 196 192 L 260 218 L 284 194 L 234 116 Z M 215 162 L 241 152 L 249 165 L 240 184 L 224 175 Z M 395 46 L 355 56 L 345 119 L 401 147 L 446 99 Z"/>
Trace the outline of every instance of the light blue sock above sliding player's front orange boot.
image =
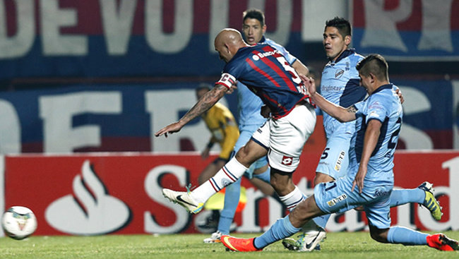
<path id="1" fill-rule="evenodd" d="M 263 248 L 268 246 L 270 243 L 292 236 L 292 234 L 297 233 L 300 229 L 301 228 L 293 227 L 292 223 L 290 223 L 289 216 L 287 215 L 282 219 L 278 219 L 278 221 L 276 221 L 273 226 L 268 229 L 268 231 L 263 233 L 261 236 L 258 236 L 254 240 L 254 246 L 258 249 Z"/>

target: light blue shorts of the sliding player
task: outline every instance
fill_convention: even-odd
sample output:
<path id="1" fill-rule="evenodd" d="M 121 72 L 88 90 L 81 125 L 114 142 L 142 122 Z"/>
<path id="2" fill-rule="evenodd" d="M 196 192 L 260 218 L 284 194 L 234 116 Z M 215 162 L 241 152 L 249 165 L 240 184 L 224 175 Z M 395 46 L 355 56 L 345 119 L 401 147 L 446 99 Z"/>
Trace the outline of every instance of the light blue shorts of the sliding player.
<path id="1" fill-rule="evenodd" d="M 354 175 L 319 183 L 314 188 L 314 198 L 318 208 L 331 214 L 342 213 L 363 205 L 366 218 L 371 226 L 378 229 L 391 227 L 389 198 L 393 183 L 372 183 L 365 180 L 362 193 L 359 193 L 357 186 L 354 191 L 351 191 L 352 181 L 354 181 Z"/>

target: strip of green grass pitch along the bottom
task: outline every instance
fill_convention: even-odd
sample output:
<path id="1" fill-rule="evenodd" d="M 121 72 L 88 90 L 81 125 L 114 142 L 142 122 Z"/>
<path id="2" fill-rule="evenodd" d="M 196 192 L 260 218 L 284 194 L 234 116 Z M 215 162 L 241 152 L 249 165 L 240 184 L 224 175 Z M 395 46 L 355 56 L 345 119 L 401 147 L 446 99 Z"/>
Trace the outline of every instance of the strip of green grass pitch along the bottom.
<path id="1" fill-rule="evenodd" d="M 459 231 L 443 233 L 459 239 Z M 307 254 L 287 251 L 280 242 L 262 252 L 227 252 L 221 243 L 203 243 L 206 237 L 207 234 L 31 236 L 22 241 L 4 237 L 0 239 L 0 258 L 459 258 L 459 251 L 376 243 L 367 232 L 328 233 L 321 243 L 322 250 Z"/>

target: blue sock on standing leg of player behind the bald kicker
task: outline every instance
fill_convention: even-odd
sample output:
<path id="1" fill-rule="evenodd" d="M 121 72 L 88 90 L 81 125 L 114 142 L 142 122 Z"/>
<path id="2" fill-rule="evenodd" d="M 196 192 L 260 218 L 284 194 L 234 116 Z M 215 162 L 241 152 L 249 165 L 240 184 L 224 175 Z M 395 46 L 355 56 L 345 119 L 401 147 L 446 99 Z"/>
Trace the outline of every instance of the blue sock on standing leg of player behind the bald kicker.
<path id="1" fill-rule="evenodd" d="M 239 204 L 239 196 L 241 195 L 241 179 L 239 178 L 234 183 L 226 186 L 225 189 L 225 205 L 220 212 L 220 219 L 218 219 L 218 231 L 222 234 L 229 234 L 229 228 L 234 219 L 237 205 Z"/>

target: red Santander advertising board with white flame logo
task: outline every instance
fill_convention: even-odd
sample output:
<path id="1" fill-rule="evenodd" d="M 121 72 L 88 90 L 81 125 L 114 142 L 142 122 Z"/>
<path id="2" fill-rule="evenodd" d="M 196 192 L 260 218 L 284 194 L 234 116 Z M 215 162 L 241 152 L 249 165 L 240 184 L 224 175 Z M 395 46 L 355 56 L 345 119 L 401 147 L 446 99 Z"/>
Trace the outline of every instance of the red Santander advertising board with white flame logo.
<path id="1" fill-rule="evenodd" d="M 319 152 L 304 152 L 294 183 L 312 194 L 311 180 Z M 196 185 L 203 161 L 197 153 L 152 155 L 106 153 L 95 155 L 18 155 L 4 157 L 4 208 L 30 207 L 38 220 L 37 235 L 193 233 L 199 215 L 189 215 L 169 203 L 161 188 L 185 190 Z M 435 222 L 417 205 L 393 208 L 393 224 L 418 229 L 459 229 L 459 152 L 397 152 L 395 186 L 416 188 L 434 183 L 443 206 L 443 219 Z M 237 231 L 263 231 L 285 214 L 273 198 L 263 198 L 244 179 L 247 202 L 238 212 Z M 363 212 L 333 215 L 328 231 L 365 229 Z"/>

